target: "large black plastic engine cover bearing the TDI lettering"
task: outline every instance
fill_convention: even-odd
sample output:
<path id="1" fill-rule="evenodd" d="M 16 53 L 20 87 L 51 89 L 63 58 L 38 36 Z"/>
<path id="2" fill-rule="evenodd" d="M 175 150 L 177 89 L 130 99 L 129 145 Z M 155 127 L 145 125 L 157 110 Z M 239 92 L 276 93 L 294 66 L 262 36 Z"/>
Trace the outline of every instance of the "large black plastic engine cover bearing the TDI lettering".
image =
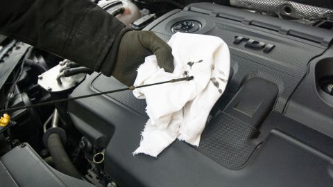
<path id="1" fill-rule="evenodd" d="M 200 22 L 194 33 L 221 37 L 231 53 L 233 75 L 212 109 L 203 147 L 175 141 L 157 159 L 134 157 L 148 119 L 144 100 L 123 91 L 71 101 L 74 125 L 96 148 L 105 148 L 105 173 L 121 186 L 332 186 L 332 137 L 285 117 L 284 109 L 311 59 L 325 51 L 333 33 L 212 3 L 173 10 L 146 30 L 168 40 L 171 27 L 186 20 Z M 269 82 L 268 88 L 274 89 L 268 91 L 273 95 L 267 102 L 273 112 L 266 107 L 255 125 L 225 110 L 233 97 L 244 96 L 237 91 L 249 80 Z M 71 96 L 123 87 L 114 78 L 94 73 Z"/>

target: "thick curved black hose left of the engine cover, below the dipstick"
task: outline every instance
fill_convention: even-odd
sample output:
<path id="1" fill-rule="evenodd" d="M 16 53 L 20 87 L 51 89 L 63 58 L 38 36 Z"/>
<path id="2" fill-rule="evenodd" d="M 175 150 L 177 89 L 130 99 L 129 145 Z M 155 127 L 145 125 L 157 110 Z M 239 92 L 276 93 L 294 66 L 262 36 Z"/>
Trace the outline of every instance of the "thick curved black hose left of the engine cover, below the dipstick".
<path id="1" fill-rule="evenodd" d="M 56 165 L 56 169 L 66 175 L 81 179 L 81 175 L 74 167 L 73 163 L 69 159 L 65 148 L 62 145 L 60 136 L 56 133 L 50 134 L 47 139 L 47 147 L 53 158 L 53 162 Z"/>

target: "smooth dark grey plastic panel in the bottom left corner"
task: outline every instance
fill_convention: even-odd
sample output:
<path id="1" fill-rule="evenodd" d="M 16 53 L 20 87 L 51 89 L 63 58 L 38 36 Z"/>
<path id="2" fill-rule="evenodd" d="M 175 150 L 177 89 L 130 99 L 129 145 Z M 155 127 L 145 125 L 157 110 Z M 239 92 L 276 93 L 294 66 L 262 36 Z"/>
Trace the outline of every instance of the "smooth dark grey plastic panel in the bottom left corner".
<path id="1" fill-rule="evenodd" d="M 86 181 L 69 177 L 51 168 L 28 143 L 22 143 L 0 157 L 0 173 L 0 186 L 6 187 L 93 187 Z"/>

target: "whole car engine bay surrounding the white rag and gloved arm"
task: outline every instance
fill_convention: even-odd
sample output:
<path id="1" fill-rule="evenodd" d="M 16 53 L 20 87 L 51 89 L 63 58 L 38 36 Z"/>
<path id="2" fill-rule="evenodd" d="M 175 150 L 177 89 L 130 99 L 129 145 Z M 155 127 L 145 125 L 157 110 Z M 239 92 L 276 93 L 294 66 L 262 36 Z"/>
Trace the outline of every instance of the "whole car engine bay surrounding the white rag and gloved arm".
<path id="1" fill-rule="evenodd" d="M 69 101 L 10 114 L 9 125 L 0 128 L 0 184 L 38 186 L 33 181 L 43 179 L 50 186 L 332 186 L 330 19 L 310 24 L 297 14 L 282 19 L 286 12 L 276 16 L 225 3 L 167 1 L 164 9 L 155 1 L 96 3 L 133 30 L 151 30 L 166 42 L 182 32 L 228 44 L 228 86 L 207 118 L 200 145 L 175 141 L 157 158 L 133 156 L 148 119 L 145 100 L 131 91 L 70 100 L 125 86 L 5 39 L 0 57 L 8 75 L 1 78 L 1 105 Z M 126 11 L 131 15 L 124 17 Z M 71 177 L 54 165 L 57 152 L 66 154 L 59 144 L 71 162 L 64 163 Z M 39 176 L 27 173 L 31 167 Z"/>

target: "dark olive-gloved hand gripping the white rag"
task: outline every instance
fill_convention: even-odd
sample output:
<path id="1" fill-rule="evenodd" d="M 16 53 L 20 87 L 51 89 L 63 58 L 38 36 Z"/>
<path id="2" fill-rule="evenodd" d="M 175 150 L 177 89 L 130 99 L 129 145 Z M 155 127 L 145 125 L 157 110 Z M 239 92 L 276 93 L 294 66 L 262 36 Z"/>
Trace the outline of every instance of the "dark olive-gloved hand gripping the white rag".
<path id="1" fill-rule="evenodd" d="M 144 58 L 155 54 L 157 64 L 172 73 L 173 56 L 171 47 L 151 31 L 128 31 L 121 38 L 117 60 L 112 75 L 123 84 L 133 85 L 137 77 L 137 68 Z"/>

